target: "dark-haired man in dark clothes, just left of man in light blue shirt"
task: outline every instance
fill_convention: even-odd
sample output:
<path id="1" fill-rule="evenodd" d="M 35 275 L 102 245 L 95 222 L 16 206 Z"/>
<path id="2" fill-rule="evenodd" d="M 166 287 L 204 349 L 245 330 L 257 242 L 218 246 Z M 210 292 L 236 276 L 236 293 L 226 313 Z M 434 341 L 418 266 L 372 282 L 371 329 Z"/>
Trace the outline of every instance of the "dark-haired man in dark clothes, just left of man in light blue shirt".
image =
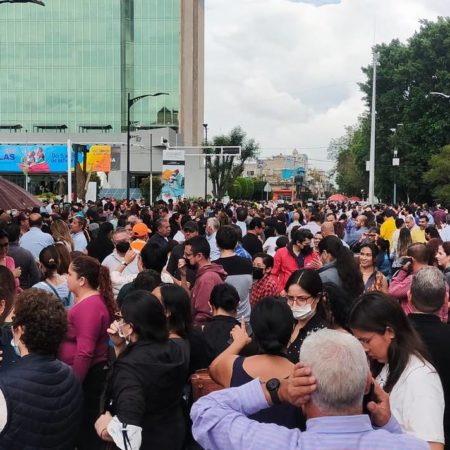
<path id="1" fill-rule="evenodd" d="M 22 289 L 28 289 L 36 283 L 39 283 L 41 280 L 41 272 L 31 252 L 19 246 L 19 225 L 8 225 L 6 232 L 9 237 L 8 255 L 14 259 L 16 267 L 22 269 L 19 277 L 20 287 Z"/>

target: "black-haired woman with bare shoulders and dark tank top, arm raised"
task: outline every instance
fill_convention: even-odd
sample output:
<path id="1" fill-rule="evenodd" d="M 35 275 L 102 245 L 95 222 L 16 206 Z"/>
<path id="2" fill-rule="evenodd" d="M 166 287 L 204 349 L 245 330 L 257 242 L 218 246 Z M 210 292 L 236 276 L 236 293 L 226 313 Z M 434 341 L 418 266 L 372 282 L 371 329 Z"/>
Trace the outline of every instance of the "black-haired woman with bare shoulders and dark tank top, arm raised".
<path id="1" fill-rule="evenodd" d="M 231 331 L 233 342 L 209 366 L 211 378 L 224 387 L 241 386 L 255 378 L 266 382 L 271 378 L 287 378 L 294 364 L 286 347 L 292 332 L 292 314 L 282 299 L 266 297 L 256 304 L 250 316 L 255 342 L 260 354 L 244 358 L 242 349 L 251 342 L 245 325 Z M 292 405 L 274 405 L 249 416 L 264 423 L 296 428 L 300 410 Z"/>

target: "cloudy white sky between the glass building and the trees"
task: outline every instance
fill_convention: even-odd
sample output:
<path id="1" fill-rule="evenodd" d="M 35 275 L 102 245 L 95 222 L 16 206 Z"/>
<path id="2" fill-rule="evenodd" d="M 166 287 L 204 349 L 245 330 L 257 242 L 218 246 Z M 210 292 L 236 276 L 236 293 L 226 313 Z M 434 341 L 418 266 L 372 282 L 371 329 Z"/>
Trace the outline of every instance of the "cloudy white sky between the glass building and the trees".
<path id="1" fill-rule="evenodd" d="M 365 105 L 357 83 L 374 44 L 406 41 L 449 0 L 205 0 L 208 139 L 239 125 L 261 157 L 327 148 Z"/>

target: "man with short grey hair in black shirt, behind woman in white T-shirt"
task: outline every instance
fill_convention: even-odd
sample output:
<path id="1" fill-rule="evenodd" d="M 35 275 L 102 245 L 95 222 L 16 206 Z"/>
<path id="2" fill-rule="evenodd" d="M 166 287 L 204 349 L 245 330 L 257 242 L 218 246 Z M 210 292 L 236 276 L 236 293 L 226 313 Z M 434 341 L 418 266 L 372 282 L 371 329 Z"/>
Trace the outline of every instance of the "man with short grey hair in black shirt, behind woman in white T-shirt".
<path id="1" fill-rule="evenodd" d="M 436 267 L 424 267 L 414 276 L 408 293 L 413 312 L 408 316 L 425 343 L 444 389 L 445 442 L 450 442 L 450 326 L 439 318 L 448 301 L 447 283 Z"/>

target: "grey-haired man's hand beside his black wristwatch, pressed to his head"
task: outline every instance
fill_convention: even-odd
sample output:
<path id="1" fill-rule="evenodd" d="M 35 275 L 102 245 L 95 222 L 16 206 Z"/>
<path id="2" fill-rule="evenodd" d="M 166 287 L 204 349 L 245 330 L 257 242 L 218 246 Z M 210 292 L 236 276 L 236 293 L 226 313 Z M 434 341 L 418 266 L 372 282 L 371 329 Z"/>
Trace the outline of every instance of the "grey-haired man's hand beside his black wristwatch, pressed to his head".
<path id="1" fill-rule="evenodd" d="M 311 376 L 311 369 L 299 362 L 287 381 L 281 383 L 279 396 L 282 402 L 300 407 L 309 402 L 316 389 L 316 379 Z"/>

